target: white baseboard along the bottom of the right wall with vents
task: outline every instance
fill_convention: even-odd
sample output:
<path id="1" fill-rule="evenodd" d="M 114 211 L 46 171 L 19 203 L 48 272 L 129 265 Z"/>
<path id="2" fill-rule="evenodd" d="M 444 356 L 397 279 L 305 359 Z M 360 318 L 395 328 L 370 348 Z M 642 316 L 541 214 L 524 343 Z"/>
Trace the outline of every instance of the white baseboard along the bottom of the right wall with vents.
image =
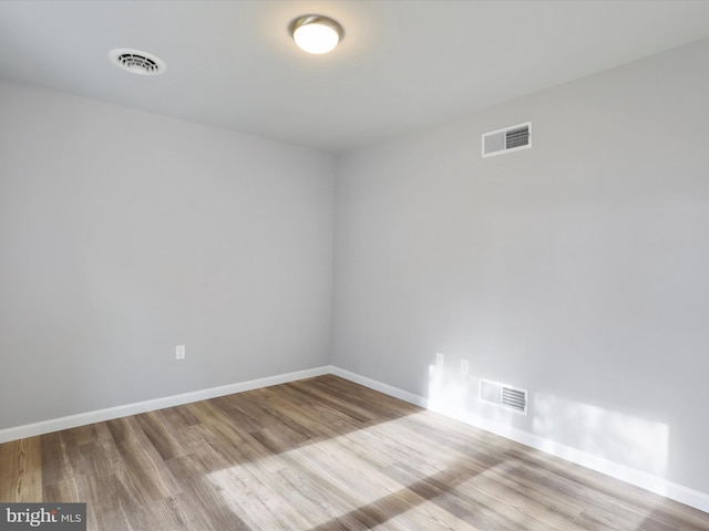
<path id="1" fill-rule="evenodd" d="M 363 385 L 371 389 L 379 391 L 387 395 L 394 396 L 421 407 L 428 407 L 429 399 L 423 396 L 409 393 L 408 391 L 399 389 L 391 385 L 351 373 L 343 368 L 332 367 L 331 372 L 337 376 Z M 640 487 L 641 489 L 664 496 L 665 498 L 669 498 L 670 500 L 679 501 L 680 503 L 693 507 L 695 509 L 699 509 L 700 511 L 709 512 L 709 493 L 690 489 L 689 487 L 675 483 L 665 478 L 653 476 L 650 473 L 626 467 L 625 465 L 620 465 L 615 461 L 609 461 L 608 459 L 594 456 L 571 446 L 562 445 L 561 442 L 556 442 L 552 439 L 540 437 L 538 435 L 499 424 L 476 415 L 461 416 L 450 415 L 446 414 L 446 412 L 438 413 L 446 415 L 451 418 L 455 418 L 456 420 L 461 420 L 465 424 L 470 424 L 471 426 L 475 426 L 476 428 L 484 429 L 485 431 L 500 435 L 502 437 L 505 437 L 506 439 L 514 440 L 515 442 L 520 442 L 536 450 L 561 457 L 562 459 L 566 459 L 567 461 L 572 461 L 576 465 L 580 465 L 592 470 L 605 473 L 606 476 L 619 479 L 621 481 L 625 481 L 626 483 L 635 485 L 636 487 Z"/>

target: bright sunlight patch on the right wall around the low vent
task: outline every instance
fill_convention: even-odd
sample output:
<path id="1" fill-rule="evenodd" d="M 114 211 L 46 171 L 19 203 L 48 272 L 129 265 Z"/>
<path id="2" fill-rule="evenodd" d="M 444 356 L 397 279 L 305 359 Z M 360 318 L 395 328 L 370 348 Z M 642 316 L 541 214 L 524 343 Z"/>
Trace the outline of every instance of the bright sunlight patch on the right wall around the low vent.
<path id="1" fill-rule="evenodd" d="M 548 393 L 530 393 L 527 416 L 520 415 L 481 402 L 479 376 L 438 365 L 429 366 L 429 409 L 607 473 L 621 465 L 666 477 L 669 428 L 662 423 Z"/>

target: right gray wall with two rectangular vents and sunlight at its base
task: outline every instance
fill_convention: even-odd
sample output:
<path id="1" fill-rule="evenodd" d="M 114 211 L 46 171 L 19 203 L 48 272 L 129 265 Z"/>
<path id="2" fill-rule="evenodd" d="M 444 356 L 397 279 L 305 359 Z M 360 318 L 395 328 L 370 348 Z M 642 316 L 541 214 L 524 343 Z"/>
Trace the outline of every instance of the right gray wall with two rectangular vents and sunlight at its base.
<path id="1" fill-rule="evenodd" d="M 333 364 L 709 492 L 707 56 L 340 157 Z M 481 158 L 528 119 L 532 149 Z M 480 403 L 479 377 L 528 388 L 530 415 Z"/>

